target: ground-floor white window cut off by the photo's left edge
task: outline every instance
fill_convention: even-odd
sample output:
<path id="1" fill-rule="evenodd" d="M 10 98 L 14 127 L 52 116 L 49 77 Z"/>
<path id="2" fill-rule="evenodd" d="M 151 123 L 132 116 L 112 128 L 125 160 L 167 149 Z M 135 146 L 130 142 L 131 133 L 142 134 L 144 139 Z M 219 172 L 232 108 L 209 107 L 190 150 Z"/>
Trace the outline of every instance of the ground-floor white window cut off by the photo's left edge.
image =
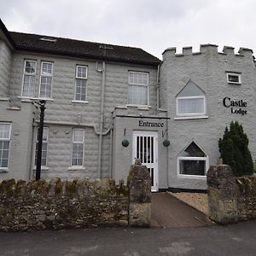
<path id="1" fill-rule="evenodd" d="M 11 125 L 0 123 L 0 170 L 7 170 Z"/>

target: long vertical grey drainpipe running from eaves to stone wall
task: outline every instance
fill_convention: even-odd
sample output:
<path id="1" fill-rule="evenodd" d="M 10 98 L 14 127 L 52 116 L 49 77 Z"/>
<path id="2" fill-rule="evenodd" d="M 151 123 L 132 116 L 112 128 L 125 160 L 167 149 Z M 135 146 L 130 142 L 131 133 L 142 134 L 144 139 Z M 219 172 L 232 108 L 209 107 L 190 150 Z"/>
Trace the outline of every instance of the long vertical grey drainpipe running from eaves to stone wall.
<path id="1" fill-rule="evenodd" d="M 98 154 L 98 178 L 102 178 L 102 131 L 104 123 L 104 99 L 105 99 L 105 83 L 106 83 L 106 65 L 102 62 L 102 70 L 96 68 L 98 72 L 102 72 L 102 99 L 100 109 L 100 131 L 99 131 L 99 154 Z"/>

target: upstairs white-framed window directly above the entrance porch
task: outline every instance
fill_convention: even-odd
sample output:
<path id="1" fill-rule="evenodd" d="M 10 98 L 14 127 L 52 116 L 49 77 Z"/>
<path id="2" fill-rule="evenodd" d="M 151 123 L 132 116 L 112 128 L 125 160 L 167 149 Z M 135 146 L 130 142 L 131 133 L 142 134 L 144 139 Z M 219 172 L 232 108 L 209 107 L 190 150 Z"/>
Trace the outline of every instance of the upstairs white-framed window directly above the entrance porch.
<path id="1" fill-rule="evenodd" d="M 148 73 L 129 72 L 128 104 L 148 105 Z"/>

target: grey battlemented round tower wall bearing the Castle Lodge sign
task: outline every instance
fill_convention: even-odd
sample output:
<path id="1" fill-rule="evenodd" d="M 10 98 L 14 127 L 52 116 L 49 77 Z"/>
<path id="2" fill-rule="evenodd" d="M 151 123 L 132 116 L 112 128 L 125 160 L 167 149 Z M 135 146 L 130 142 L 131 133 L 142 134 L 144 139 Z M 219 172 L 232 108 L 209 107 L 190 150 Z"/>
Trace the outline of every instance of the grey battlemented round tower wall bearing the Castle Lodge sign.
<path id="1" fill-rule="evenodd" d="M 177 175 L 177 156 L 189 143 L 195 141 L 209 157 L 209 166 L 218 163 L 218 138 L 224 134 L 226 125 L 237 120 L 244 127 L 249 138 L 249 148 L 253 160 L 256 159 L 256 69 L 251 49 L 201 45 L 200 52 L 192 53 L 192 48 L 183 48 L 176 54 L 175 48 L 166 49 L 160 68 L 160 107 L 168 111 L 169 179 L 168 186 L 182 189 L 207 189 L 206 177 L 188 178 Z M 227 72 L 240 73 L 241 84 L 229 84 Z M 195 83 L 206 96 L 206 116 L 194 119 L 178 118 L 176 96 L 189 82 Z M 225 108 L 224 97 L 233 101 L 247 102 L 247 114 L 231 113 Z M 239 109 L 239 107 L 237 107 Z"/>

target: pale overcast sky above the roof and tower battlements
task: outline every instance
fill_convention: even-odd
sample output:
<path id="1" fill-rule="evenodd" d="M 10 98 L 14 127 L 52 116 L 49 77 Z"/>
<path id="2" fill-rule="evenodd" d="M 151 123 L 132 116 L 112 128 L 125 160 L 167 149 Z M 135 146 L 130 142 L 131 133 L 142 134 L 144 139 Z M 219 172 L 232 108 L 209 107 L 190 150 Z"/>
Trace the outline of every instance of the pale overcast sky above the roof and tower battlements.
<path id="1" fill-rule="evenodd" d="M 9 31 L 136 46 L 161 59 L 200 44 L 256 51 L 255 0 L 0 0 Z"/>

